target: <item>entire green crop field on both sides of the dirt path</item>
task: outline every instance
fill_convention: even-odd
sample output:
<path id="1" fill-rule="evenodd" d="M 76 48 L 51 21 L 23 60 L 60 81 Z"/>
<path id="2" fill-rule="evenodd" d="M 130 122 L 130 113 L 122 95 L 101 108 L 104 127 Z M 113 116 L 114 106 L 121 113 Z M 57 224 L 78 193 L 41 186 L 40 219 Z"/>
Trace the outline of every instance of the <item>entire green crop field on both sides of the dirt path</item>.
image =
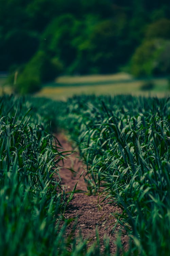
<path id="1" fill-rule="evenodd" d="M 65 236 L 70 198 L 63 196 L 60 177 L 53 179 L 63 155 L 52 134 L 62 129 L 86 163 L 89 195 L 104 193 L 122 208 L 116 225 L 126 231 L 129 249 L 124 252 L 118 241 L 117 255 L 169 256 L 169 98 L 4 95 L 0 114 L 2 255 L 110 255 L 99 242 L 87 249 L 74 230 Z"/>

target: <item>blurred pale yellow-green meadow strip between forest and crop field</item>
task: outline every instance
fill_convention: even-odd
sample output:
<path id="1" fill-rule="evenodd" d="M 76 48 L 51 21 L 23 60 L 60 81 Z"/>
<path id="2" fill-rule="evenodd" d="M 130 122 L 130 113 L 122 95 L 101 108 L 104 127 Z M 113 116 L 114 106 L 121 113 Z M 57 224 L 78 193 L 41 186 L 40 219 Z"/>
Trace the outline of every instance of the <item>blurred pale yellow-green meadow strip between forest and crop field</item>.
<path id="1" fill-rule="evenodd" d="M 66 100 L 73 95 L 119 95 L 131 94 L 134 96 L 157 96 L 170 95 L 168 79 L 151 79 L 154 83 L 152 90 L 141 90 L 141 86 L 150 81 L 149 79 L 136 80 L 126 73 L 112 75 L 86 75 L 86 76 L 61 76 L 55 82 L 44 84 L 36 97 L 46 97 L 53 100 Z M 0 93 L 10 94 L 12 88 L 5 84 L 5 77 L 0 78 Z"/>

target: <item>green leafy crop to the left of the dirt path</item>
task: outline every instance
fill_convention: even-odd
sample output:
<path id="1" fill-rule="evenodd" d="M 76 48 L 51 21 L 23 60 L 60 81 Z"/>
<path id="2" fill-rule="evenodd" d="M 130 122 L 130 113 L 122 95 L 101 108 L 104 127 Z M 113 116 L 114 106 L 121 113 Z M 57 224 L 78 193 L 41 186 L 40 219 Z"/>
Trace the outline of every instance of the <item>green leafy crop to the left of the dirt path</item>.
<path id="1" fill-rule="evenodd" d="M 45 99 L 0 99 L 1 255 L 104 255 L 99 240 L 87 250 L 74 230 L 66 235 L 71 220 L 61 223 L 68 202 L 53 173 L 63 156 L 49 128 L 56 126 L 57 109 Z"/>

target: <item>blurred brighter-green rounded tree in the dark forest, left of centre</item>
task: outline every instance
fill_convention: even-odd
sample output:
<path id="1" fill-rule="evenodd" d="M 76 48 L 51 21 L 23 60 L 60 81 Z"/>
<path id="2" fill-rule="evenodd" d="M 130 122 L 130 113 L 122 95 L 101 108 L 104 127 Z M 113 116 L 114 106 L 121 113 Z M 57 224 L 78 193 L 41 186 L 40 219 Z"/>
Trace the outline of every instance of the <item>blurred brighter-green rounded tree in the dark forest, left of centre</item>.
<path id="1" fill-rule="evenodd" d="M 77 57 L 72 40 L 81 33 L 81 23 L 71 14 L 65 14 L 52 20 L 43 33 L 45 40 L 41 47 L 58 57 L 67 68 Z"/>

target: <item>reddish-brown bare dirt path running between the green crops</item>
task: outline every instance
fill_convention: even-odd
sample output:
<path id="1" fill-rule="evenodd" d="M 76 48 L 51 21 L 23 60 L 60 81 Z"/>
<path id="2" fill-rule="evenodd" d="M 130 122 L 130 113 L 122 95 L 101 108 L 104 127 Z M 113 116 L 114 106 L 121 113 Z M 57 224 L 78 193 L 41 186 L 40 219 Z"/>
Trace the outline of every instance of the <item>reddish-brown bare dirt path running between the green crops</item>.
<path id="1" fill-rule="evenodd" d="M 55 134 L 58 141 L 61 143 L 61 151 L 73 151 L 75 148 L 72 147 L 67 137 L 63 133 Z M 76 151 L 76 150 L 75 150 Z M 75 184 L 78 182 L 76 189 L 84 191 L 82 193 L 75 193 L 73 199 L 70 201 L 64 217 L 67 218 L 78 218 L 76 233 L 78 234 L 81 230 L 82 237 L 88 239 L 88 245 L 96 241 L 96 227 L 98 227 L 99 238 L 101 241 L 101 251 L 104 250 L 103 238 L 104 235 L 110 240 L 110 251 L 113 255 L 116 253 L 117 246 L 115 245 L 117 234 L 120 230 L 120 224 L 116 227 L 113 233 L 113 227 L 116 223 L 116 218 L 112 213 L 121 213 L 121 209 L 114 204 L 106 204 L 102 201 L 102 197 L 99 198 L 100 207 L 98 207 L 98 195 L 91 195 L 87 191 L 86 183 L 83 175 L 86 174 L 86 167 L 82 160 L 79 158 L 77 152 L 67 156 L 63 163 L 60 163 L 60 176 L 62 180 L 62 186 L 67 191 L 72 191 Z M 74 170 L 75 172 L 70 171 Z M 81 173 L 83 175 L 80 177 Z M 72 224 L 73 225 L 73 224 Z M 70 230 L 72 226 L 70 225 Z M 69 231 L 68 231 L 69 232 Z M 128 247 L 128 237 L 126 234 L 122 236 L 122 243 L 124 249 Z"/>

